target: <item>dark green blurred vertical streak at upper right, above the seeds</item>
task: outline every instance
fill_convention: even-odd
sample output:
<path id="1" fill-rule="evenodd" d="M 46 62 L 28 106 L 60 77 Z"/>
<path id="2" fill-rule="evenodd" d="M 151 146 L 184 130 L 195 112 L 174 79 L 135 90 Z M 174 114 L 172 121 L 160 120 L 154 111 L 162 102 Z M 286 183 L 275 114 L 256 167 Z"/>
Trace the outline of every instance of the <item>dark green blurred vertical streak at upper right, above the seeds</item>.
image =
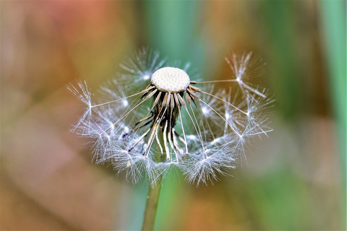
<path id="1" fill-rule="evenodd" d="M 277 87 L 273 89 L 277 97 L 278 108 L 286 119 L 293 120 L 302 110 L 301 98 L 303 86 L 299 73 L 299 62 L 296 58 L 296 44 L 293 35 L 297 29 L 293 27 L 298 17 L 295 17 L 296 2 L 293 1 L 264 1 L 261 8 L 264 14 L 264 23 L 269 29 L 269 41 L 272 48 L 272 59 L 276 60 L 277 76 L 271 78 L 276 81 Z M 294 17 L 293 17 L 294 16 Z"/>

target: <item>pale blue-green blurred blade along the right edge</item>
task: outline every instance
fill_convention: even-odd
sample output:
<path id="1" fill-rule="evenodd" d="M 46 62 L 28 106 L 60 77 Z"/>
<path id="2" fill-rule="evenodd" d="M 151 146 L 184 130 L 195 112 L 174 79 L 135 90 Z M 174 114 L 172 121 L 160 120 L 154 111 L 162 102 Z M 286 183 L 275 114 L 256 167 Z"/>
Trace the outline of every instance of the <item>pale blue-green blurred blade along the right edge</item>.
<path id="1" fill-rule="evenodd" d="M 341 172 L 346 173 L 347 161 L 347 90 L 346 90 L 346 1 L 322 1 L 322 21 L 326 41 L 327 62 L 329 67 L 334 116 L 340 151 Z M 346 195 L 346 174 L 342 174 L 342 191 Z M 342 204 L 346 205 L 346 197 Z M 346 206 L 342 209 L 346 218 Z"/>

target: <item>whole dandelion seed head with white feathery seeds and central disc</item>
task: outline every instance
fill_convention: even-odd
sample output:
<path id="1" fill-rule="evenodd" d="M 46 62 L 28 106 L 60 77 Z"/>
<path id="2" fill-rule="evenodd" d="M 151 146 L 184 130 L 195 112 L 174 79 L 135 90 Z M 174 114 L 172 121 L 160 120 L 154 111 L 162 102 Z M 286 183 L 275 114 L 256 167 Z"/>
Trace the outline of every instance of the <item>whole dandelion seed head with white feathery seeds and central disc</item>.
<path id="1" fill-rule="evenodd" d="M 226 61 L 227 79 L 197 81 L 189 64 L 141 49 L 100 87 L 98 100 L 86 82 L 68 86 L 85 109 L 72 131 L 88 138 L 93 161 L 112 164 L 134 183 L 145 178 L 154 185 L 171 170 L 189 183 L 213 183 L 272 130 L 264 109 L 273 100 L 252 83 L 260 60 L 244 53 Z"/>

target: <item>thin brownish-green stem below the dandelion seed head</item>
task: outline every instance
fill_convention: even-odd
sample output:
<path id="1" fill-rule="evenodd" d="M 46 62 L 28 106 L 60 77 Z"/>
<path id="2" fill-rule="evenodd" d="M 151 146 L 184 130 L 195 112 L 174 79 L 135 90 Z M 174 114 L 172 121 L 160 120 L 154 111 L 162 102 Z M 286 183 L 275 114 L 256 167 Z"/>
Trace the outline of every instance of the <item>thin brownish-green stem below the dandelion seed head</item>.
<path id="1" fill-rule="evenodd" d="M 158 206 L 158 199 L 161 188 L 161 180 L 162 175 L 160 176 L 159 182 L 156 185 L 154 185 L 153 187 L 149 186 L 142 230 L 153 230 L 155 213 Z"/>

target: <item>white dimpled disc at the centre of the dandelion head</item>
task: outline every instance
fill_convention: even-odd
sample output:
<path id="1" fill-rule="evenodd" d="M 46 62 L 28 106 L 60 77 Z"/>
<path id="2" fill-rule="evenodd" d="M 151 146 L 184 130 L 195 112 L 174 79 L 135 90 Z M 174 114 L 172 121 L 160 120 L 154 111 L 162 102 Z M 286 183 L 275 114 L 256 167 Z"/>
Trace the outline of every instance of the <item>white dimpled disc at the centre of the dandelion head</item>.
<path id="1" fill-rule="evenodd" d="M 184 70 L 172 67 L 160 68 L 151 77 L 151 83 L 156 89 L 171 93 L 187 90 L 189 82 L 189 76 Z"/>

